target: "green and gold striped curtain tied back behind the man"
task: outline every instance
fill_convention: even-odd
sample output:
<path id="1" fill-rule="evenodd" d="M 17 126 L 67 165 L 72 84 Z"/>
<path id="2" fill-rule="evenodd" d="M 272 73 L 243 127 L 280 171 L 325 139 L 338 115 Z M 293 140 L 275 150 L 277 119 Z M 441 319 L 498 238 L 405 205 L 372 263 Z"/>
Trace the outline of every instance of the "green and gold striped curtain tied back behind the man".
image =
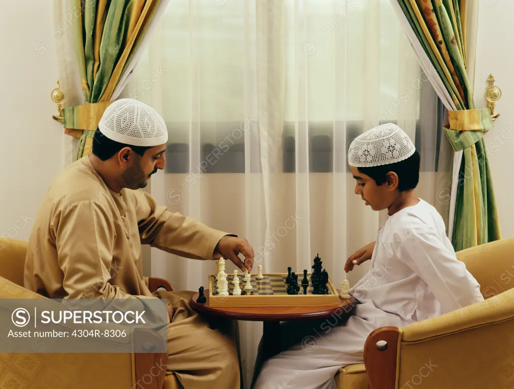
<path id="1" fill-rule="evenodd" d="M 72 26 L 82 92 L 86 103 L 93 105 L 88 111 L 98 111 L 94 116 L 101 117 L 106 105 L 96 103 L 111 100 L 161 0 L 70 1 L 72 9 L 81 10 L 74 12 Z M 77 158 L 81 158 L 91 152 L 95 129 L 77 128 L 75 124 L 89 118 L 77 116 L 87 110 L 74 108 L 69 107 L 69 112 L 64 112 L 65 118 L 69 118 L 64 125 L 70 124 L 67 134 L 77 136 L 80 133 Z"/>

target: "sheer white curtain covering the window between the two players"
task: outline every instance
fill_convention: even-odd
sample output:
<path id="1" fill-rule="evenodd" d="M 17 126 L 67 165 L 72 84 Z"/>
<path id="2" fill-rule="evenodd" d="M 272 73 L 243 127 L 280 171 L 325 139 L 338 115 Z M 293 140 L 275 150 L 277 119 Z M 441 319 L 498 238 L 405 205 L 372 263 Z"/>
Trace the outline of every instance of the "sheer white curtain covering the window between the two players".
<path id="1" fill-rule="evenodd" d="M 419 196 L 436 203 L 437 98 L 389 1 L 172 0 L 122 96 L 168 125 L 152 195 L 248 239 L 255 269 L 302 273 L 319 253 L 339 285 L 382 216 L 354 194 L 346 150 L 379 123 L 416 141 Z M 215 270 L 159 250 L 151 261 L 176 289 L 197 290 Z M 248 386 L 262 324 L 240 328 Z"/>

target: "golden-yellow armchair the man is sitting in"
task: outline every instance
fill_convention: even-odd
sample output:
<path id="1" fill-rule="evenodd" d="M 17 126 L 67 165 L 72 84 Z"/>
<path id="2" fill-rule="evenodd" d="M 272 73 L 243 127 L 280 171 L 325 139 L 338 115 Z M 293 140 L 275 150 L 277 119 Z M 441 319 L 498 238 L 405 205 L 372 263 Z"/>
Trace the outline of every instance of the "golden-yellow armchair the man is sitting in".
<path id="1" fill-rule="evenodd" d="M 23 287 L 26 249 L 26 242 L 0 239 L 0 299 L 45 298 Z M 151 291 L 173 290 L 163 279 L 149 278 L 148 285 Z M 0 388 L 179 389 L 176 376 L 166 371 L 167 364 L 167 353 L 4 353 L 0 354 Z"/>

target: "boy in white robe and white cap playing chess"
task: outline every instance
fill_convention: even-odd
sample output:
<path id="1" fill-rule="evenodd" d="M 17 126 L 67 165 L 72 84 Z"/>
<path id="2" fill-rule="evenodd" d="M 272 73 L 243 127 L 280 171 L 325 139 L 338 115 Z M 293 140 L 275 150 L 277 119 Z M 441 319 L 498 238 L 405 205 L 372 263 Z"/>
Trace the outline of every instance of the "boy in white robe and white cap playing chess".
<path id="1" fill-rule="evenodd" d="M 480 285 L 455 256 L 443 219 L 414 193 L 419 154 L 407 134 L 394 124 L 366 131 L 352 142 L 348 163 L 356 195 L 373 210 L 388 209 L 376 242 L 345 265 L 348 272 L 371 259 L 368 274 L 350 290 L 358 300 L 355 315 L 266 361 L 256 389 L 337 388 L 336 372 L 363 362 L 364 342 L 374 329 L 483 301 Z"/>

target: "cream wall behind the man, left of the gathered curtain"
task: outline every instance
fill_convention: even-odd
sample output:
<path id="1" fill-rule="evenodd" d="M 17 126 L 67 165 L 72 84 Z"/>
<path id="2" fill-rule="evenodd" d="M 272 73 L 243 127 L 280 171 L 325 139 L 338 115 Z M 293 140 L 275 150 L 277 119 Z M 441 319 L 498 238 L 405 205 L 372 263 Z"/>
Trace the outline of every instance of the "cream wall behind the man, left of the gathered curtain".
<path id="1" fill-rule="evenodd" d="M 63 127 L 51 118 L 57 60 L 52 2 L 2 1 L 0 238 L 27 240 L 42 196 L 63 168 Z"/>

